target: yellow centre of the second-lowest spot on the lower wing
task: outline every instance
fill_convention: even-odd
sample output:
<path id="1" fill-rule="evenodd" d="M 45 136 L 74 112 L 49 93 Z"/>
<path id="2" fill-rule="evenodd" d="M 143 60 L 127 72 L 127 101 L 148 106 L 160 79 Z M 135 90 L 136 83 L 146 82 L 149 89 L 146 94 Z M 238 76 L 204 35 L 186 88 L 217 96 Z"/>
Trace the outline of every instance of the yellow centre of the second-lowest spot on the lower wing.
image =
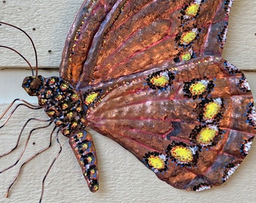
<path id="1" fill-rule="evenodd" d="M 192 150 L 187 147 L 172 147 L 171 154 L 175 159 L 178 160 L 178 162 L 191 162 L 193 160 Z"/>

